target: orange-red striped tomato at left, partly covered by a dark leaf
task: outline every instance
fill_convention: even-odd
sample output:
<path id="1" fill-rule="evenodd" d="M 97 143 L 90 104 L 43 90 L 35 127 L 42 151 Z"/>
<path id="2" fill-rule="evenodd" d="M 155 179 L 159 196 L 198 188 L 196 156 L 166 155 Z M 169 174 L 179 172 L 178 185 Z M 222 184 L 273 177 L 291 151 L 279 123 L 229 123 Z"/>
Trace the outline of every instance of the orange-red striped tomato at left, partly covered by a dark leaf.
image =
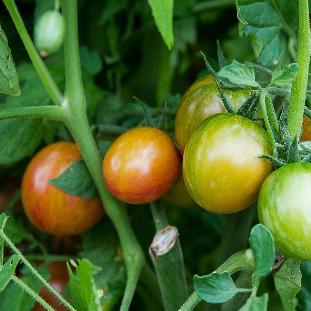
<path id="1" fill-rule="evenodd" d="M 86 231 L 104 214 L 98 198 L 71 195 L 49 183 L 73 162 L 81 160 L 75 143 L 56 142 L 30 161 L 21 183 L 21 200 L 29 220 L 39 230 L 68 236 Z"/>

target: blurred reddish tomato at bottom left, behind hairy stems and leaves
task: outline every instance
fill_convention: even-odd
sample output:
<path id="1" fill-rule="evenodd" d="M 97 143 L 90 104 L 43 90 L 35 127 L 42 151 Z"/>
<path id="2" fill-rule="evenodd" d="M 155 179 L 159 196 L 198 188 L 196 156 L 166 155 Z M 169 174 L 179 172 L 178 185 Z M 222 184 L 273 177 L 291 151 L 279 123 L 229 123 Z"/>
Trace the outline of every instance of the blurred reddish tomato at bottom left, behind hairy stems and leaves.
<path id="1" fill-rule="evenodd" d="M 69 281 L 66 262 L 50 262 L 46 269 L 50 274 L 49 283 L 60 295 L 64 295 L 64 290 Z M 56 311 L 68 310 L 45 286 L 42 286 L 39 295 Z M 31 311 L 45 310 L 37 301 Z"/>

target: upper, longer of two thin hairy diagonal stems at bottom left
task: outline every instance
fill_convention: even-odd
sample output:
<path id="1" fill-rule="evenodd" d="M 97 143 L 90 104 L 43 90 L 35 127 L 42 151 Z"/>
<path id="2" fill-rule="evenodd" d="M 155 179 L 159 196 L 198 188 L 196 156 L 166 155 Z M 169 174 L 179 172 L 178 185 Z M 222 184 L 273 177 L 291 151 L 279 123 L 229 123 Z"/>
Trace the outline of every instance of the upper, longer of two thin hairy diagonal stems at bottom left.
<path id="1" fill-rule="evenodd" d="M 14 253 L 16 253 L 21 261 L 25 264 L 25 266 L 34 274 L 35 277 L 41 281 L 41 283 L 54 295 L 57 297 L 57 299 L 62 302 L 69 310 L 71 311 L 77 311 L 72 307 L 71 304 L 68 303 L 67 300 L 65 300 L 61 295 L 58 294 L 56 290 L 53 289 L 53 287 L 44 280 L 44 278 L 39 274 L 38 271 L 35 270 L 35 268 L 31 265 L 31 263 L 25 258 L 25 256 L 16 248 L 16 246 L 11 242 L 11 240 L 7 237 L 7 235 L 3 232 L 3 230 L 0 230 L 0 236 L 1 238 L 6 242 L 6 244 L 13 250 Z M 13 280 L 15 281 L 15 280 Z M 35 297 L 36 298 L 36 297 Z M 37 299 L 37 298 L 36 298 Z M 53 309 L 51 309 L 53 310 Z"/>

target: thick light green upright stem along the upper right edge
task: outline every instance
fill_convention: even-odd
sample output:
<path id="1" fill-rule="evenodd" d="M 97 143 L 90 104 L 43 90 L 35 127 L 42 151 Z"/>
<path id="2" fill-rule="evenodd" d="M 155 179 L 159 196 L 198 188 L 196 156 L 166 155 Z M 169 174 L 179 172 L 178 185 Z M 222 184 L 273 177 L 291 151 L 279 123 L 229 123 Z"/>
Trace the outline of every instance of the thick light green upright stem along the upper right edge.
<path id="1" fill-rule="evenodd" d="M 300 134 L 304 115 L 304 104 L 309 74 L 310 61 L 310 21 L 308 0 L 299 0 L 299 30 L 297 63 L 299 71 L 292 85 L 287 127 L 291 137 Z"/>

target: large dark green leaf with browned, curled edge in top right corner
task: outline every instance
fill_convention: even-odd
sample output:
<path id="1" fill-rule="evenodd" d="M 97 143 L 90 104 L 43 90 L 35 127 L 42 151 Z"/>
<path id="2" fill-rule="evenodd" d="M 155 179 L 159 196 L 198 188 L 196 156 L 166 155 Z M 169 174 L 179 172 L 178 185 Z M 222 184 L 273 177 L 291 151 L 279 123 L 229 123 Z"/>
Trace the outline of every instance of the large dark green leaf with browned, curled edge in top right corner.
<path id="1" fill-rule="evenodd" d="M 240 35 L 251 37 L 255 57 L 263 65 L 277 64 L 284 54 L 280 31 L 296 41 L 298 2 L 237 0 Z"/>

